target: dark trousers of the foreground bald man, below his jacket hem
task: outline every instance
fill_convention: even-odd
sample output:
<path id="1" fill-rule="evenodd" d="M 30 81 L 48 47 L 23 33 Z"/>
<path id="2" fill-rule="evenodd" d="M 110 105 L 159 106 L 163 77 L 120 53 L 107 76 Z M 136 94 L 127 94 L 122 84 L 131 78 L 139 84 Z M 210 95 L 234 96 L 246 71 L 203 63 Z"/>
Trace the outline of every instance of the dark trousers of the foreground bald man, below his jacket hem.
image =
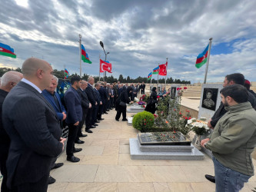
<path id="1" fill-rule="evenodd" d="M 36 183 L 25 183 L 20 184 L 18 186 L 15 186 L 12 188 L 12 190 L 9 190 L 11 192 L 46 192 L 48 188 L 48 178 L 49 174 L 45 174 L 44 177 L 42 177 L 38 182 Z"/>

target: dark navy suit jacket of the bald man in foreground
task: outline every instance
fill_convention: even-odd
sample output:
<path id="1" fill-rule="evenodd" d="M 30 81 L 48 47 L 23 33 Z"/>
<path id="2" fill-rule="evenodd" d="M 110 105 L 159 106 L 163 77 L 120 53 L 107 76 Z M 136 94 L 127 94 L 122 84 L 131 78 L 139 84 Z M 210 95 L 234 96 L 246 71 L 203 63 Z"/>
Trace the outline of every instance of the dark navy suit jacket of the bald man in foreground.
<path id="1" fill-rule="evenodd" d="M 34 183 L 49 174 L 52 157 L 62 152 L 62 131 L 52 105 L 20 81 L 3 104 L 3 125 L 11 138 L 7 186 Z"/>

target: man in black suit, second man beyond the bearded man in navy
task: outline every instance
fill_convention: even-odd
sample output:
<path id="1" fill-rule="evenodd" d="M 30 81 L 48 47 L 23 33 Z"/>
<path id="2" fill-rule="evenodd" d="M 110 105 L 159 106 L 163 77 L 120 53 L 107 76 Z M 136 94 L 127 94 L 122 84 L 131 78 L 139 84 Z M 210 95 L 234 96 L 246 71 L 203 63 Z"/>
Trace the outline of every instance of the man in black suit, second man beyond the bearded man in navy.
<path id="1" fill-rule="evenodd" d="M 92 85 L 95 83 L 95 79 L 90 77 L 88 78 L 88 87 L 85 89 L 85 92 L 88 96 L 88 99 L 91 103 L 91 108 L 88 109 L 88 114 L 85 118 L 85 131 L 92 133 L 91 128 L 95 128 L 95 122 L 92 121 L 91 116 L 95 112 L 95 106 L 97 101 L 95 101 L 95 94 L 92 88 Z"/>

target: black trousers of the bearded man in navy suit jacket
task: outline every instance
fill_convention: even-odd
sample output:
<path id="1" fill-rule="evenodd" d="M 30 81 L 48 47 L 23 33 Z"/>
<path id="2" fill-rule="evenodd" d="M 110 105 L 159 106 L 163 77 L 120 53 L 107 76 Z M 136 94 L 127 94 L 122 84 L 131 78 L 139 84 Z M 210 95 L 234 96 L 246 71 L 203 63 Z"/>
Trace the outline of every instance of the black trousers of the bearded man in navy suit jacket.
<path id="1" fill-rule="evenodd" d="M 68 156 L 73 156 L 73 151 L 75 148 L 75 138 L 78 134 L 78 126 L 74 124 L 68 124 L 68 141 L 66 153 Z"/>

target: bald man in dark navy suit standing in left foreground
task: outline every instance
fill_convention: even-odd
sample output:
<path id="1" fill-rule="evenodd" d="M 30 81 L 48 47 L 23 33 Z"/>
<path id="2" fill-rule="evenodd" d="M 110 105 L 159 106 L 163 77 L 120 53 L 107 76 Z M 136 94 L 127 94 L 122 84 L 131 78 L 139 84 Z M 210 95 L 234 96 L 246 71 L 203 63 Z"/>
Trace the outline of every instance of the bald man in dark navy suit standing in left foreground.
<path id="1" fill-rule="evenodd" d="M 3 125 L 11 139 L 7 187 L 47 191 L 52 158 L 62 153 L 65 141 L 55 110 L 41 94 L 52 81 L 52 67 L 41 59 L 28 58 L 22 72 L 22 81 L 2 106 Z"/>

